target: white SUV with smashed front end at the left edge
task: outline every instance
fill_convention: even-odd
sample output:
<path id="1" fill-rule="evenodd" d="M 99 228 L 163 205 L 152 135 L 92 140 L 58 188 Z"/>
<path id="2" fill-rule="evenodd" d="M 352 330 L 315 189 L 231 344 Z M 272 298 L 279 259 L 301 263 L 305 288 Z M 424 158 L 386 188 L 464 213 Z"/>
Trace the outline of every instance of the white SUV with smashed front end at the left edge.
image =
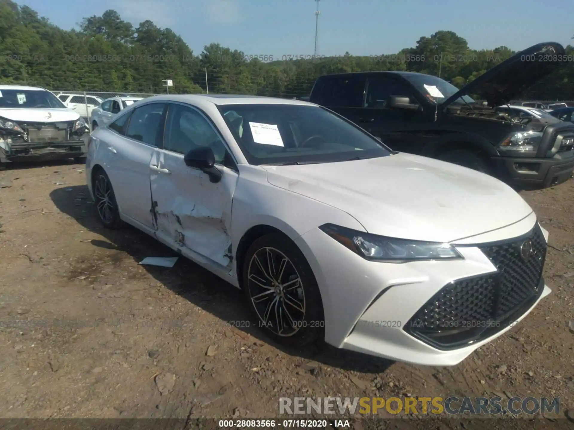
<path id="1" fill-rule="evenodd" d="M 85 157 L 89 128 L 43 88 L 0 85 L 0 163 Z"/>

